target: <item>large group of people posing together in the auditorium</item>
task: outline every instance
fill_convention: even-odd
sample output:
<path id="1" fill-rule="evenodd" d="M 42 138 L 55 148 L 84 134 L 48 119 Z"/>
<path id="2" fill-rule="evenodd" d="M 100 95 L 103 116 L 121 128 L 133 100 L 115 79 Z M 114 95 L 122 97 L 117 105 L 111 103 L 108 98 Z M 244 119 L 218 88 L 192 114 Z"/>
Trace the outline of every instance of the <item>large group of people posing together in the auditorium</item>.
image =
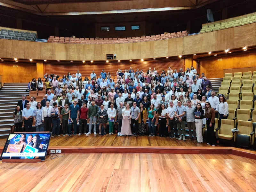
<path id="1" fill-rule="evenodd" d="M 96 134 L 96 125 L 100 124 L 100 134 L 106 134 L 109 124 L 109 135 L 114 134 L 115 119 L 118 122 L 118 136 L 137 136 L 146 134 L 148 122 L 149 136 L 156 134 L 156 119 L 158 119 L 160 137 L 167 136 L 167 118 L 170 125 L 170 138 L 185 139 L 185 126 L 189 130 L 189 141 L 203 143 L 202 127 L 207 126 L 207 143 L 215 145 L 215 118 L 228 118 L 228 105 L 224 96 L 216 97 L 211 81 L 204 73 L 197 74 L 191 66 L 183 71 L 168 68 L 161 73 L 156 68 L 143 70 L 118 69 L 114 75 L 116 80 L 104 69 L 97 75 L 92 71 L 90 77 L 77 70 L 76 74 L 62 77 L 56 74 L 45 74 L 45 82 L 35 78 L 29 83 L 31 91 L 43 90 L 46 94 L 41 102 L 34 97 L 22 96 L 13 112 L 14 123 L 18 131 L 22 131 L 22 122 L 26 131 L 32 130 L 33 120 L 36 131 L 52 131 L 60 136 L 60 114 L 62 115 L 63 136 L 76 135 L 76 125 L 79 123 L 79 135 Z M 54 91 L 52 93 L 52 91 Z M 58 109 L 60 108 L 60 110 Z M 89 131 L 86 132 L 87 119 Z M 192 137 L 193 130 L 193 137 Z M 179 134 L 178 134 L 179 132 Z M 179 136 L 178 136 L 179 135 Z"/>

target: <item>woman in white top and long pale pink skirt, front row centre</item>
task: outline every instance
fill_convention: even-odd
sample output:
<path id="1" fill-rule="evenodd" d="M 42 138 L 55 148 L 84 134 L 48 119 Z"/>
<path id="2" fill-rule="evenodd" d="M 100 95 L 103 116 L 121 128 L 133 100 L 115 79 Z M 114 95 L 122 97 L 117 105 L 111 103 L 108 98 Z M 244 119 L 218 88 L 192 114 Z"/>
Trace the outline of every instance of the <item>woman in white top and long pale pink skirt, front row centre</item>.
<path id="1" fill-rule="evenodd" d="M 131 124 L 131 109 L 130 109 L 129 103 L 127 103 L 126 107 L 122 109 L 122 126 L 121 126 L 120 134 L 117 134 L 117 136 L 132 135 L 130 124 Z M 118 118 L 118 126 L 119 126 L 119 118 Z"/>

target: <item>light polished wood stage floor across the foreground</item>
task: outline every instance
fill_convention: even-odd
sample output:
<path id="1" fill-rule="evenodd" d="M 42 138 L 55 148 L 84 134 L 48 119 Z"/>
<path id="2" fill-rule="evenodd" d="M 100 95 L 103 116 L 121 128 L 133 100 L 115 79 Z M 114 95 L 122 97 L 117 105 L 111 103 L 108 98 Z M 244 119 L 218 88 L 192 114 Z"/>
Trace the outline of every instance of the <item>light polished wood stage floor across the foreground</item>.
<path id="1" fill-rule="evenodd" d="M 42 163 L 0 163 L 1 192 L 255 189 L 256 160 L 234 155 L 91 153 L 66 154 Z"/>

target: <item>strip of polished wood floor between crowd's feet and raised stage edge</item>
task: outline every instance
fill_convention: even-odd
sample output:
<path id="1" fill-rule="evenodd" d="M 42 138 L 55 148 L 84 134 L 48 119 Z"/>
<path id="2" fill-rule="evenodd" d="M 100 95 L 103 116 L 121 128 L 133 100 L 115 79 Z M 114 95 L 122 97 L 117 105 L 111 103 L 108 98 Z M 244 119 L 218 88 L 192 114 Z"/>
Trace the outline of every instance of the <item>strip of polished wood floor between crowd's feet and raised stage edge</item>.
<path id="1" fill-rule="evenodd" d="M 0 139 L 0 147 L 4 147 L 6 139 Z M 114 135 L 72 135 L 55 136 L 50 140 L 50 146 L 181 146 L 181 147 L 209 147 L 206 141 L 202 144 L 194 141 L 179 141 L 169 137 L 123 136 Z M 212 146 L 211 146 L 212 147 Z"/>

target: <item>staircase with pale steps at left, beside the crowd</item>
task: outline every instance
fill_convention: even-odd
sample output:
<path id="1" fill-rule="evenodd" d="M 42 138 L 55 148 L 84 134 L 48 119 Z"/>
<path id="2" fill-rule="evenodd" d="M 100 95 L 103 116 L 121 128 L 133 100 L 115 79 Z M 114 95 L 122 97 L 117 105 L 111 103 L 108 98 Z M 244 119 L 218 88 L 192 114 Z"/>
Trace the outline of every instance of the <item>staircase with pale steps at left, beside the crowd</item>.
<path id="1" fill-rule="evenodd" d="M 14 124 L 12 112 L 21 100 L 21 95 L 29 95 L 25 90 L 28 83 L 4 83 L 0 91 L 0 139 L 7 138 Z"/>

